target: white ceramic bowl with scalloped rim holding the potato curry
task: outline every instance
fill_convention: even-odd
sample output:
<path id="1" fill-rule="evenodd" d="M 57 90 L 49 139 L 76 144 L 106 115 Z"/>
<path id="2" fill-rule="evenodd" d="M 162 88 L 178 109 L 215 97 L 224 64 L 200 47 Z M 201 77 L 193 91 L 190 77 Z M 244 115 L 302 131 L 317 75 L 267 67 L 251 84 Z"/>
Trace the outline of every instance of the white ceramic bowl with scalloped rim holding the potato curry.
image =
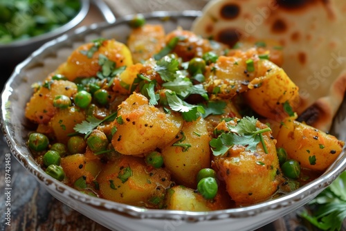
<path id="1" fill-rule="evenodd" d="M 195 11 L 154 12 L 145 17 L 148 23 L 163 24 L 165 30 L 170 31 L 176 26 L 189 29 L 194 18 L 199 15 L 201 12 Z M 57 199 L 111 230 L 253 230 L 301 207 L 346 169 L 344 150 L 322 176 L 294 192 L 248 207 L 213 212 L 150 210 L 115 203 L 82 194 L 45 174 L 26 146 L 29 130 L 24 119 L 24 108 L 32 94 L 31 84 L 43 80 L 64 62 L 74 48 L 91 39 L 113 37 L 125 41 L 130 31 L 130 19 L 132 16 L 118 19 L 111 25 L 93 24 L 75 30 L 70 36 L 48 42 L 17 66 L 2 93 L 1 125 L 13 156 Z M 338 138 L 345 140 L 345 103 L 335 123 L 338 130 L 335 129 L 334 132 L 338 134 Z"/>

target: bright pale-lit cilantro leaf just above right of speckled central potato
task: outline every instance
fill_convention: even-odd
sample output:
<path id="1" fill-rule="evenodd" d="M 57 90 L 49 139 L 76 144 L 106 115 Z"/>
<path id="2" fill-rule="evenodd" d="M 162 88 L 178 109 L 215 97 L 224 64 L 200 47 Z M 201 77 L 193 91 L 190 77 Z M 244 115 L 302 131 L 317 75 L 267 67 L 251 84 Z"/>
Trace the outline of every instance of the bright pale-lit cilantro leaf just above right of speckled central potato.
<path id="1" fill-rule="evenodd" d="M 188 122 L 192 122 L 199 118 L 200 114 L 205 113 L 203 107 L 199 105 L 188 104 L 181 100 L 175 92 L 165 92 L 168 105 L 173 111 L 180 111 L 183 115 L 183 119 Z"/>

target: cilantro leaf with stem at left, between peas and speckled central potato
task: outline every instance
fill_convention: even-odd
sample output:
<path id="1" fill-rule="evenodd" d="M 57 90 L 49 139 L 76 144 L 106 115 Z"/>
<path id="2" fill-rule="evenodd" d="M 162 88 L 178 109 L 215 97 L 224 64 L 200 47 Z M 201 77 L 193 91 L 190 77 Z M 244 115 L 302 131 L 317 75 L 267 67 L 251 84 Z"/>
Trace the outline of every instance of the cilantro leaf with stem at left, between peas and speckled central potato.
<path id="1" fill-rule="evenodd" d="M 117 112 L 112 113 L 103 120 L 99 120 L 98 118 L 95 118 L 93 115 L 88 116 L 86 120 L 82 121 L 80 124 L 75 124 L 75 127 L 73 129 L 79 133 L 85 134 L 84 138 L 87 138 L 93 131 L 93 129 L 98 127 L 98 125 L 102 124 L 102 122 L 114 120 L 117 114 Z"/>

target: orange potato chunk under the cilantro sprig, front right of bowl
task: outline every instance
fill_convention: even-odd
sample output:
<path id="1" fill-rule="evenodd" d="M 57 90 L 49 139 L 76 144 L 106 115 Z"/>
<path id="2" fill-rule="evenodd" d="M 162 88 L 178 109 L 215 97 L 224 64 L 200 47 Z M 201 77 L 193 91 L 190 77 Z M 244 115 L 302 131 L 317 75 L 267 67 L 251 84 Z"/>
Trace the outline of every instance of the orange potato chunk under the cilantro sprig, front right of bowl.
<path id="1" fill-rule="evenodd" d="M 267 126 L 257 121 L 256 127 L 265 129 Z M 233 145 L 226 154 L 215 156 L 217 172 L 237 205 L 250 205 L 270 198 L 281 182 L 275 140 L 271 139 L 269 131 L 262 133 L 262 136 L 267 154 L 260 142 L 256 151 Z"/>

